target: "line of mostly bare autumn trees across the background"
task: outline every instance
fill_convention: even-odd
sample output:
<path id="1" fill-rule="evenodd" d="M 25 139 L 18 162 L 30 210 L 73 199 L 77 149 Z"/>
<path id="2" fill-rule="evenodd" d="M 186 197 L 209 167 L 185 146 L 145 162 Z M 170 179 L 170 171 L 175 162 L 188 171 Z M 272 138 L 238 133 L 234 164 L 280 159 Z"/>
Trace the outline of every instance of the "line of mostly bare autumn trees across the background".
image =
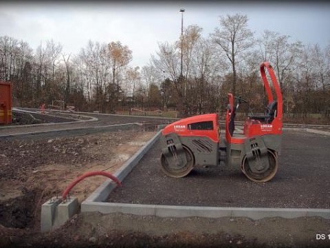
<path id="1" fill-rule="evenodd" d="M 83 111 L 136 107 L 189 116 L 223 112 L 232 92 L 250 100 L 244 111 L 263 112 L 259 65 L 270 61 L 286 114 L 329 118 L 330 43 L 322 49 L 271 30 L 256 37 L 242 14 L 219 17 L 208 37 L 202 31 L 188 25 L 175 43 L 159 42 L 142 68 L 131 67 L 133 52 L 120 41 L 89 41 L 78 54 L 64 54 L 53 40 L 34 51 L 0 37 L 0 80 L 12 82 L 14 105 L 26 107 L 63 101 Z"/>

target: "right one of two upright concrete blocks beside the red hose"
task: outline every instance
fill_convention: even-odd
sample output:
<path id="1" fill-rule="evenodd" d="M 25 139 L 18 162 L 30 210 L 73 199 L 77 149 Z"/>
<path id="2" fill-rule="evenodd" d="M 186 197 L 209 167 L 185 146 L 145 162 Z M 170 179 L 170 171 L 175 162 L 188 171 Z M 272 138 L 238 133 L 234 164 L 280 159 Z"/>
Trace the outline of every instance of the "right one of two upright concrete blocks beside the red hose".
<path id="1" fill-rule="evenodd" d="M 53 229 L 61 227 L 69 218 L 78 213 L 79 205 L 76 197 L 71 197 L 58 204 L 55 211 Z"/>

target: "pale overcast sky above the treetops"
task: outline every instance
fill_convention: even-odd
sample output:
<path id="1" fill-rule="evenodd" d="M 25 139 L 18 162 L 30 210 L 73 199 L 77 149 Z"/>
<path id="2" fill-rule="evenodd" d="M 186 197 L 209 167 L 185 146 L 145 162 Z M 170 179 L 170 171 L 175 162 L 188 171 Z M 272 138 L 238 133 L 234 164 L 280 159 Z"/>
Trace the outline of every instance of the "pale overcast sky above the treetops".
<path id="1" fill-rule="evenodd" d="M 60 42 L 66 54 L 78 54 L 89 39 L 100 43 L 120 41 L 133 51 L 132 66 L 146 65 L 157 42 L 173 43 L 184 26 L 197 24 L 208 37 L 219 26 L 219 16 L 247 14 L 249 28 L 259 36 L 268 29 L 292 41 L 330 43 L 330 4 L 324 2 L 0 2 L 0 36 L 27 41 L 35 50 L 48 39 Z"/>

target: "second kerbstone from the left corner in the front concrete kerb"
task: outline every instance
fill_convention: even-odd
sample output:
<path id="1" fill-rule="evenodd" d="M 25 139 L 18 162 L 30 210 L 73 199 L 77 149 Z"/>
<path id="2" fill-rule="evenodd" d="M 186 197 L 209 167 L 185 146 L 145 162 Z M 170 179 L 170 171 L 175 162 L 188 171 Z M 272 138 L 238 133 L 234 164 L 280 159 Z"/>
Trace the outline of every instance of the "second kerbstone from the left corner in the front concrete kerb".
<path id="1" fill-rule="evenodd" d="M 191 207 L 156 205 L 155 215 L 159 217 L 206 217 L 220 218 L 231 214 L 230 207 Z"/>

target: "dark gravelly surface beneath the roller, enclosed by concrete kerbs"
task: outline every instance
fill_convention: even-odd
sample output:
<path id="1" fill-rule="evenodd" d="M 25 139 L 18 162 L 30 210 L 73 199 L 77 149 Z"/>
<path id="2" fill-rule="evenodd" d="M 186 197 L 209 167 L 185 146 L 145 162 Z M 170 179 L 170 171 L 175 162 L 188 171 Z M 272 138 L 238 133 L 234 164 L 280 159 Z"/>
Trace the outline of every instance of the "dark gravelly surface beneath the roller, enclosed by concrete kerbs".
<path id="1" fill-rule="evenodd" d="M 330 208 L 330 138 L 304 130 L 283 132 L 279 168 L 254 183 L 225 166 L 198 168 L 184 178 L 160 169 L 156 143 L 109 196 L 113 203 L 210 207 Z"/>

